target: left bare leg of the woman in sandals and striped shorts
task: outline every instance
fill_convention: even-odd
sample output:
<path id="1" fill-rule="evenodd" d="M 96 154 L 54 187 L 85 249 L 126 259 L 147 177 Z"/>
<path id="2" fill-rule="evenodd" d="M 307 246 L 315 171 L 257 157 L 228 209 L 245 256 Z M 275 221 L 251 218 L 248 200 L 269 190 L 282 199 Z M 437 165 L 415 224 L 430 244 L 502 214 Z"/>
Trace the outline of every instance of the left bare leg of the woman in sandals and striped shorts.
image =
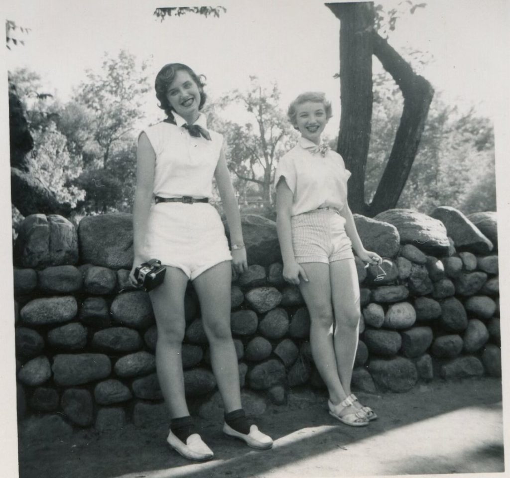
<path id="1" fill-rule="evenodd" d="M 329 400 L 337 405 L 347 396 L 340 382 L 333 342 L 333 309 L 329 265 L 320 262 L 301 264 L 308 282 L 299 289 L 310 312 L 310 346 L 314 362 L 329 392 Z"/>

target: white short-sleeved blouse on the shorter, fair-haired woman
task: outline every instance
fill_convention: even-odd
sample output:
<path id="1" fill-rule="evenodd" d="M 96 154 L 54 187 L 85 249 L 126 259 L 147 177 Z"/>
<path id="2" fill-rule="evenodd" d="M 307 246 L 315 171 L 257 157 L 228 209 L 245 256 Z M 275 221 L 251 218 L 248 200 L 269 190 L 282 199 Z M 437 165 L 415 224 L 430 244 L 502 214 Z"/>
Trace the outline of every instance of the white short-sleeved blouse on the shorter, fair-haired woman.
<path id="1" fill-rule="evenodd" d="M 330 149 L 322 156 L 318 151 L 311 151 L 315 146 L 311 141 L 300 138 L 276 168 L 275 187 L 283 177 L 294 193 L 292 216 L 318 207 L 341 210 L 347 204 L 347 180 L 351 173 L 345 169 L 342 156 Z"/>

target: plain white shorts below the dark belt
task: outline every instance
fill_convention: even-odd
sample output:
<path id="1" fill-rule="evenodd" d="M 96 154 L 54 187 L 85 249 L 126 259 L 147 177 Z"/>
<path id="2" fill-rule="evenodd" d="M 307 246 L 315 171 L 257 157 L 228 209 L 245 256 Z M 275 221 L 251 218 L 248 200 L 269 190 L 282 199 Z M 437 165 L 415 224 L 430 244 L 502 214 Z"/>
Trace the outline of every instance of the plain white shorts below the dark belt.
<path id="1" fill-rule="evenodd" d="M 153 204 L 144 252 L 149 259 L 181 269 L 191 280 L 213 265 L 232 259 L 218 211 L 200 202 Z"/>

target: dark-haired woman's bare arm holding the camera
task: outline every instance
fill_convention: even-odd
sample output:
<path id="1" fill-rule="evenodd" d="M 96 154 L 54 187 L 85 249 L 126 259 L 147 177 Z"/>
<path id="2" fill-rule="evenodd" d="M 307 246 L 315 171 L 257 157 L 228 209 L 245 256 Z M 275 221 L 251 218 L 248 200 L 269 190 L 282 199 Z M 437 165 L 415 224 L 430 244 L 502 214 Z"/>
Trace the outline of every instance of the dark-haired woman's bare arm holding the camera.
<path id="1" fill-rule="evenodd" d="M 130 278 L 136 282 L 135 269 L 150 257 L 142 255 L 142 245 L 147 229 L 152 191 L 154 190 L 154 169 L 156 166 L 156 153 L 150 144 L 147 135 L 142 132 L 138 138 L 136 151 L 136 190 L 133 206 L 133 250 L 134 260 Z"/>

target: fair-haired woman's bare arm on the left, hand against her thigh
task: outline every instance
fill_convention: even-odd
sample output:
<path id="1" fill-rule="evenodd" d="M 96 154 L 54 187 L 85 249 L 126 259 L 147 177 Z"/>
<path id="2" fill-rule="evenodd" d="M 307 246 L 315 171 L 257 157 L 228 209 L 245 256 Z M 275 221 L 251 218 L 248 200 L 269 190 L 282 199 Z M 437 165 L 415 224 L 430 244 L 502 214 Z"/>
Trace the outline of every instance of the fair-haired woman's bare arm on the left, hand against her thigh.
<path id="1" fill-rule="evenodd" d="M 291 229 L 291 211 L 294 194 L 281 177 L 276 184 L 276 231 L 278 232 L 278 242 L 282 251 L 284 261 L 283 276 L 291 284 L 299 284 L 299 275 L 305 282 L 308 277 L 303 268 L 296 262 L 294 249 L 292 247 L 292 229 Z"/>

